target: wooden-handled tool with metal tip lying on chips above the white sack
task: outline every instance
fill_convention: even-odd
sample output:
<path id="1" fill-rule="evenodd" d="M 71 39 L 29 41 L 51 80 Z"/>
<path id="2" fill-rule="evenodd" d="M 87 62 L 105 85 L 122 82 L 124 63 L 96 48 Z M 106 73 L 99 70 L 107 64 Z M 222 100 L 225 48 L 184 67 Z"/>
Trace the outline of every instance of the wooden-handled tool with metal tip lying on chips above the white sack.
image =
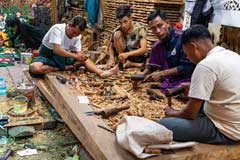
<path id="1" fill-rule="evenodd" d="M 101 109 L 98 111 L 88 111 L 88 112 L 85 112 L 85 114 L 87 116 L 101 115 L 103 118 L 107 118 L 111 115 L 117 114 L 118 112 L 128 109 L 128 108 L 130 108 L 130 106 L 113 107 L 113 108 Z"/>

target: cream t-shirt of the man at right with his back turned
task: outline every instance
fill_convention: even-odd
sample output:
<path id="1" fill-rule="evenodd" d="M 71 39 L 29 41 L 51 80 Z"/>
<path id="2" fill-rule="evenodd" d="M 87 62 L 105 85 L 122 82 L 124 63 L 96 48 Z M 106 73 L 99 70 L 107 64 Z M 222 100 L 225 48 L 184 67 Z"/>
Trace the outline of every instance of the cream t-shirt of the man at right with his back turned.
<path id="1" fill-rule="evenodd" d="M 195 68 L 189 97 L 205 100 L 204 112 L 221 133 L 240 140 L 240 56 L 213 48 Z"/>

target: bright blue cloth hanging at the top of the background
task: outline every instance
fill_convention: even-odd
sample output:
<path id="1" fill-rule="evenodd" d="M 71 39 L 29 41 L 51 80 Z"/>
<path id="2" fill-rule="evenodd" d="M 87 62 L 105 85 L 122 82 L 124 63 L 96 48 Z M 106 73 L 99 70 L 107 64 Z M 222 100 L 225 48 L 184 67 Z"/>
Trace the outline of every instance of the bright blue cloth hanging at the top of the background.
<path id="1" fill-rule="evenodd" d="M 88 21 L 93 27 L 98 20 L 99 0 L 84 0 L 84 9 L 88 13 Z"/>

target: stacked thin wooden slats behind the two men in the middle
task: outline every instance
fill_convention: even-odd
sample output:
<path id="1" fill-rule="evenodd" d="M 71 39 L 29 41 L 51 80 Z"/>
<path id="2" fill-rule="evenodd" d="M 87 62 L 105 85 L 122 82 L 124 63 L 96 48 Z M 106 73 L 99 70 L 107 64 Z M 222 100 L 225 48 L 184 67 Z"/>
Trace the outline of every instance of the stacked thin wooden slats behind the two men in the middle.
<path id="1" fill-rule="evenodd" d="M 121 1 L 111 1 L 105 0 L 104 4 L 104 29 L 100 35 L 101 42 L 106 37 L 109 37 L 115 27 L 118 26 L 118 21 L 115 16 L 115 10 L 119 5 L 129 4 L 132 9 L 132 18 L 136 22 L 142 23 L 148 33 L 148 48 L 150 49 L 153 42 L 156 41 L 156 37 L 153 35 L 152 31 L 147 24 L 147 16 L 150 11 L 155 9 L 160 9 L 167 13 L 167 17 L 170 20 L 171 25 L 174 25 L 179 21 L 181 16 L 181 8 L 183 6 L 182 0 L 121 0 Z"/>

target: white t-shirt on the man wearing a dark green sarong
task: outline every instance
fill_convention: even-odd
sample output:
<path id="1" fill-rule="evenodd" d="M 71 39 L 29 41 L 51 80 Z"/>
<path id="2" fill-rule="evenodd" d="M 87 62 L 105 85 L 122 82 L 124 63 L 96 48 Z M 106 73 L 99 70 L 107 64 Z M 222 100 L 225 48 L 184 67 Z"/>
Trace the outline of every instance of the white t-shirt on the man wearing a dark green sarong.
<path id="1" fill-rule="evenodd" d="M 66 24 L 53 25 L 43 38 L 43 45 L 53 49 L 53 44 L 59 44 L 67 51 L 81 51 L 81 35 L 68 38 L 65 32 Z"/>

